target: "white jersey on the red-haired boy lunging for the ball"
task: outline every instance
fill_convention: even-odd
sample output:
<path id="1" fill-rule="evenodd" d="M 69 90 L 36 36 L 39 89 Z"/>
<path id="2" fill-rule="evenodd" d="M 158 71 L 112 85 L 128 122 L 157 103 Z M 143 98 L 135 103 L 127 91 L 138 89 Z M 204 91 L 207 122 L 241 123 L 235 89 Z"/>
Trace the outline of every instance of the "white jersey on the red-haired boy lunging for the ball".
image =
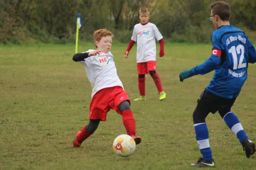
<path id="1" fill-rule="evenodd" d="M 90 51 L 94 50 L 88 50 L 86 52 Z M 84 64 L 87 78 L 93 89 L 92 98 L 97 91 L 103 88 L 114 86 L 121 86 L 123 88 L 122 82 L 117 76 L 116 65 L 110 51 L 108 54 L 101 52 L 96 56 L 87 57 L 81 63 Z"/>

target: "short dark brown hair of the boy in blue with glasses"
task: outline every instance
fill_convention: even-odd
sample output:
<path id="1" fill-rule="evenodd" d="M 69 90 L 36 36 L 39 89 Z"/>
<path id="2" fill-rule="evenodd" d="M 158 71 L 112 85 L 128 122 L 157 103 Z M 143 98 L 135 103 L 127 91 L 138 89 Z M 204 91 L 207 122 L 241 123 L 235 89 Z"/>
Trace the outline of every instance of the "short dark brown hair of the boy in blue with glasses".
<path id="1" fill-rule="evenodd" d="M 230 19 L 230 6 L 224 1 L 217 1 L 210 5 L 213 15 L 218 15 L 221 20 L 228 21 Z"/>

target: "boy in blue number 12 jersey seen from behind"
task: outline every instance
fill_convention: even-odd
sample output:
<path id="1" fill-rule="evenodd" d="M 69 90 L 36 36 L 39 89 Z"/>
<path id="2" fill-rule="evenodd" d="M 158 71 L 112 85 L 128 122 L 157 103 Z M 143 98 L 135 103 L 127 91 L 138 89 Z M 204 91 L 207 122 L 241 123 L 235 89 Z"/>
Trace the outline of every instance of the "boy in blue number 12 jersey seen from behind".
<path id="1" fill-rule="evenodd" d="M 195 137 L 203 155 L 196 163 L 191 164 L 194 167 L 215 167 L 205 122 L 210 112 L 214 114 L 218 111 L 227 126 L 236 134 L 247 158 L 256 152 L 255 144 L 249 140 L 239 119 L 231 111 L 247 79 L 248 63 L 256 62 L 256 50 L 243 31 L 230 25 L 231 11 L 226 2 L 217 1 L 210 7 L 209 19 L 216 28 L 212 33 L 212 54 L 201 65 L 180 73 L 180 81 L 183 82 L 186 78 L 215 70 L 193 113 Z"/>

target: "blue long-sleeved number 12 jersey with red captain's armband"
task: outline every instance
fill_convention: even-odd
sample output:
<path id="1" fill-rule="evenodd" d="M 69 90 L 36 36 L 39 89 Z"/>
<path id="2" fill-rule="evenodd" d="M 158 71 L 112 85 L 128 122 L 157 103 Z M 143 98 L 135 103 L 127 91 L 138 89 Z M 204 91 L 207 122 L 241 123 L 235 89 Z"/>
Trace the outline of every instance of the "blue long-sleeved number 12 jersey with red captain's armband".
<path id="1" fill-rule="evenodd" d="M 247 79 L 248 63 L 256 62 L 256 50 L 240 29 L 226 25 L 212 33 L 212 54 L 201 65 L 192 68 L 193 74 L 215 74 L 207 90 L 224 98 L 239 96 Z"/>

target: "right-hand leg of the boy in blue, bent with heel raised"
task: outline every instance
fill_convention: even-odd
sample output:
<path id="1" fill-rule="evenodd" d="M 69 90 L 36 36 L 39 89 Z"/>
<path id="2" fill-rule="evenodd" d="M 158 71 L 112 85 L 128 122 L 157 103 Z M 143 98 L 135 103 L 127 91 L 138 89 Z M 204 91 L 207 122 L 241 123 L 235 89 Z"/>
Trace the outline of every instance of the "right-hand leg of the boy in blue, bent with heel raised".
<path id="1" fill-rule="evenodd" d="M 255 144 L 249 140 L 238 117 L 231 111 L 231 107 L 234 104 L 235 100 L 236 98 L 226 99 L 224 106 L 218 112 L 226 122 L 227 126 L 233 131 L 233 133 L 239 139 L 245 151 L 246 157 L 250 158 L 250 156 L 256 152 Z"/>

